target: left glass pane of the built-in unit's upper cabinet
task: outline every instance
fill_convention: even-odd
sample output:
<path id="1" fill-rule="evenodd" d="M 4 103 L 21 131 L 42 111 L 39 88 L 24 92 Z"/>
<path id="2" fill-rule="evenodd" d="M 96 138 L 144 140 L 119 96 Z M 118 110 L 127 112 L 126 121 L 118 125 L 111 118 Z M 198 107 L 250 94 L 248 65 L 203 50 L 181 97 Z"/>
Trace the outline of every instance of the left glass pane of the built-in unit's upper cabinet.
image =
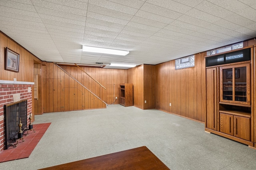
<path id="1" fill-rule="evenodd" d="M 223 100 L 233 100 L 233 69 L 223 69 Z"/>

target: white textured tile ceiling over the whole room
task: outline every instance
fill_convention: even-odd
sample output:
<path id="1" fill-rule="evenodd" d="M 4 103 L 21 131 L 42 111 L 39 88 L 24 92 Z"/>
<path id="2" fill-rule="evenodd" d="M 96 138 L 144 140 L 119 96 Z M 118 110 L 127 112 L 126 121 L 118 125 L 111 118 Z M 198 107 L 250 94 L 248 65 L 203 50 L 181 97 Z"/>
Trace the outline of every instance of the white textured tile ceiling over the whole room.
<path id="1" fill-rule="evenodd" d="M 0 30 L 43 61 L 154 65 L 255 38 L 256 0 L 0 0 Z"/>

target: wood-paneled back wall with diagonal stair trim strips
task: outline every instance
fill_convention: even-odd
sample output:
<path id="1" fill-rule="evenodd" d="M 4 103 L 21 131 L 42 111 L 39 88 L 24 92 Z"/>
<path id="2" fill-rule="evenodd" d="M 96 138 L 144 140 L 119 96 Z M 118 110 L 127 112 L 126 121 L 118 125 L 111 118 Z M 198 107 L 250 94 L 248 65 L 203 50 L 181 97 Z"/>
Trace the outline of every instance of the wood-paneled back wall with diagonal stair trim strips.
<path id="1" fill-rule="evenodd" d="M 81 67 L 102 84 L 106 88 L 105 90 L 78 67 L 61 66 L 92 93 L 100 97 L 98 99 L 54 63 L 46 62 L 43 67 L 45 67 L 43 69 L 45 73 L 42 74 L 44 113 L 104 108 L 106 105 L 100 99 L 107 104 L 112 104 L 115 97 L 118 97 L 115 104 L 119 104 L 119 84 L 127 81 L 126 70 L 123 69 Z"/>

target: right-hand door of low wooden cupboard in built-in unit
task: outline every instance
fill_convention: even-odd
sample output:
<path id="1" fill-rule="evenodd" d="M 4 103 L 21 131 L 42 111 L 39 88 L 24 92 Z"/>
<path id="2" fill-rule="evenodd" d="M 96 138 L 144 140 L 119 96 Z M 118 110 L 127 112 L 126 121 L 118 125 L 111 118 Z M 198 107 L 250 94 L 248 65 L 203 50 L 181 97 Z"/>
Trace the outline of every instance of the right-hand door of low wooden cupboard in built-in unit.
<path id="1" fill-rule="evenodd" d="M 251 140 L 251 119 L 234 116 L 234 136 L 244 140 Z"/>

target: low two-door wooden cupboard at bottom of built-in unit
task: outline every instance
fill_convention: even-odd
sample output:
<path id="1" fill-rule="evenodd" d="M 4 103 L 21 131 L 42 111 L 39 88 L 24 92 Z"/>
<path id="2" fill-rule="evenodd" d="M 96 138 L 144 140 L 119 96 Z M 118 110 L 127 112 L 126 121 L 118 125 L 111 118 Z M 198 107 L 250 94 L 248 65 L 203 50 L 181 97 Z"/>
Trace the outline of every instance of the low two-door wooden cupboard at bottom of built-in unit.
<path id="1" fill-rule="evenodd" d="M 230 114 L 236 115 L 230 115 Z M 241 116 L 238 116 L 241 115 Z M 251 140 L 251 115 L 238 111 L 220 111 L 220 132 Z"/>

